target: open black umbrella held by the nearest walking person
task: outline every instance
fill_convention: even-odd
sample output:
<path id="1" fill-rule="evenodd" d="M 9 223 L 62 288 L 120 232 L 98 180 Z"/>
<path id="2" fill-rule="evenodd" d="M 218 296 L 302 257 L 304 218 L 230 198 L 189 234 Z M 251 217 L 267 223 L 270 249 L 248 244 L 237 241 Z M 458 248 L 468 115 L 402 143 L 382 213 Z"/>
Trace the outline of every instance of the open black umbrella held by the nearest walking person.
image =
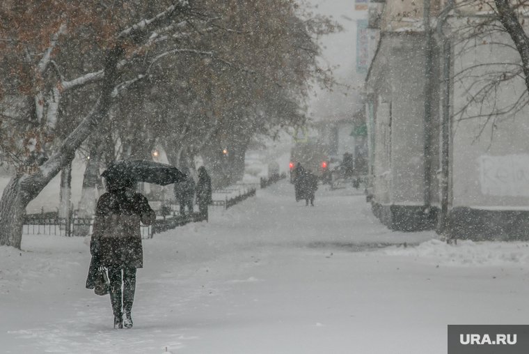
<path id="1" fill-rule="evenodd" d="M 134 180 L 136 182 L 170 185 L 186 178 L 170 164 L 161 164 L 148 160 L 119 160 L 111 162 L 101 174 L 114 180 Z"/>

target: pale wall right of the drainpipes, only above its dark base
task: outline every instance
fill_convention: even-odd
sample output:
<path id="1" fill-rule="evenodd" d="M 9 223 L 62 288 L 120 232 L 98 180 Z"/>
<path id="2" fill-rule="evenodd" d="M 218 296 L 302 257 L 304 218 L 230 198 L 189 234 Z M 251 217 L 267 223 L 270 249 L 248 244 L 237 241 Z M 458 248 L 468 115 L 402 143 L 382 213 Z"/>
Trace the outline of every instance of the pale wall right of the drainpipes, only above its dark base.
<path id="1" fill-rule="evenodd" d="M 489 41 L 510 43 L 510 38 L 507 33 L 497 33 Z M 456 45 L 454 54 L 452 75 L 457 80 L 452 94 L 452 208 L 529 208 L 529 109 L 498 114 L 526 91 L 523 79 L 500 85 L 489 100 L 470 105 L 458 114 L 469 98 L 484 88 L 483 84 L 475 84 L 475 77 L 487 84 L 491 72 L 508 73 L 512 67 L 494 63 L 517 63 L 519 53 L 476 41 L 471 50 L 468 43 Z M 461 75 L 476 65 L 476 69 Z"/>

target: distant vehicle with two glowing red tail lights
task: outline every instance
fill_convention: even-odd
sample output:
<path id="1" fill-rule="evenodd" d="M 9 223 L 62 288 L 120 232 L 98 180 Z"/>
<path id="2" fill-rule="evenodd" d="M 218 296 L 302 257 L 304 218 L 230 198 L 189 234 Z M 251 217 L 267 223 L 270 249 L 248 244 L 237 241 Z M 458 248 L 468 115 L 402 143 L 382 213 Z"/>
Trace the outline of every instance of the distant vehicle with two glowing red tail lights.
<path id="1" fill-rule="evenodd" d="M 329 170 L 329 153 L 327 146 L 317 143 L 298 143 L 290 151 L 290 183 L 296 179 L 296 166 L 315 174 L 319 180 L 328 183 L 331 178 Z"/>

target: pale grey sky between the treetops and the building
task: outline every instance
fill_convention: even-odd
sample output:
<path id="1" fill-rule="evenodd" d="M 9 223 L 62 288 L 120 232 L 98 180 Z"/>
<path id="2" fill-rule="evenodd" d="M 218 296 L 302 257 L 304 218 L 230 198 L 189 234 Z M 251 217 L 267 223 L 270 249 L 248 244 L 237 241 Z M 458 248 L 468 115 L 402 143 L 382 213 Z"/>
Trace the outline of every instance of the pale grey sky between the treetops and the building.
<path id="1" fill-rule="evenodd" d="M 356 20 L 367 18 L 368 11 L 354 10 L 354 0 L 310 0 L 313 12 L 333 18 L 339 22 L 344 31 L 322 38 L 324 44 L 324 63 L 329 66 L 340 66 L 334 71 L 335 79 L 352 86 L 347 94 L 335 90 L 326 93 L 317 90 L 317 97 L 310 98 L 309 114 L 318 120 L 325 116 L 354 113 L 358 110 L 356 101 L 358 86 L 363 85 L 364 75 L 356 74 Z M 342 92 L 345 92 L 342 90 Z"/>

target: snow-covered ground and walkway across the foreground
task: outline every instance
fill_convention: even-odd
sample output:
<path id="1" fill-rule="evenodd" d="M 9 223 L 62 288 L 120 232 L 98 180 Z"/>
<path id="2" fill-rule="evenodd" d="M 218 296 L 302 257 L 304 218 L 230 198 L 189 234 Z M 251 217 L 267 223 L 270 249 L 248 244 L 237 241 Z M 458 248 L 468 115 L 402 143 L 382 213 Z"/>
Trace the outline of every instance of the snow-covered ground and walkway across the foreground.
<path id="1" fill-rule="evenodd" d="M 293 194 L 144 240 L 131 330 L 84 288 L 83 238 L 0 247 L 0 352 L 446 353 L 448 324 L 527 322 L 526 243 L 446 245 L 388 231 L 355 190 Z"/>

